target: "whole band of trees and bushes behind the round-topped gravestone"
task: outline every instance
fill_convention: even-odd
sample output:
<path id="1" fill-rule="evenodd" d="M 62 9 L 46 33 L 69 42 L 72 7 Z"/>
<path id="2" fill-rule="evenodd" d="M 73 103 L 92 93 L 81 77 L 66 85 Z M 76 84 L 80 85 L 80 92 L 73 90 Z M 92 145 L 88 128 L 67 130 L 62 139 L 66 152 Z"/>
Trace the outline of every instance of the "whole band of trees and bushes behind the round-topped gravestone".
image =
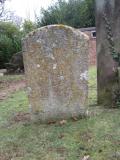
<path id="1" fill-rule="evenodd" d="M 36 15 L 36 23 L 30 20 L 21 23 L 20 17 L 5 11 L 6 1 L 0 0 L 0 68 L 5 67 L 13 54 L 21 51 L 21 39 L 38 27 L 50 24 L 75 28 L 95 26 L 94 0 L 57 0 Z"/>

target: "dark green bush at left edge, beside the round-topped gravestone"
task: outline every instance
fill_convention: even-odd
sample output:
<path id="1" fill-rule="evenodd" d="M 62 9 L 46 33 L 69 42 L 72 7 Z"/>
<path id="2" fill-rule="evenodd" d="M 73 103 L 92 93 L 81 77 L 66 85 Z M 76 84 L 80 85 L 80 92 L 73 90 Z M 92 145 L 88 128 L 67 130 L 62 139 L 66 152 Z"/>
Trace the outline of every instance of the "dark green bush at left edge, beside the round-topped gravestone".
<path id="1" fill-rule="evenodd" d="M 5 67 L 11 56 L 21 50 L 21 32 L 11 22 L 0 22 L 0 68 Z"/>

